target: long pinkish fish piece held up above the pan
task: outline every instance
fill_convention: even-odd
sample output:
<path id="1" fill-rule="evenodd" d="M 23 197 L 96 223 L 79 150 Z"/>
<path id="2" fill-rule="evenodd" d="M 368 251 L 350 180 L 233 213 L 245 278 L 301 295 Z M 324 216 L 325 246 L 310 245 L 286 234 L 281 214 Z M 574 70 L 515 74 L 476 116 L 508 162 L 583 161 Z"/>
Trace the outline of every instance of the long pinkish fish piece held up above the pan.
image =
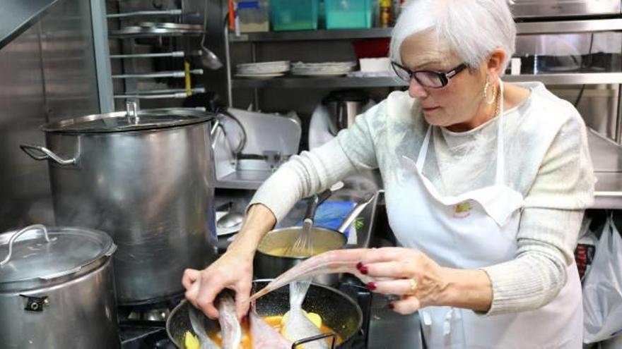
<path id="1" fill-rule="evenodd" d="M 361 274 L 356 268 L 356 264 L 360 262 L 366 249 L 352 249 L 352 250 L 331 250 L 321 253 L 305 261 L 295 265 L 288 271 L 279 275 L 273 281 L 268 283 L 264 288 L 257 291 L 250 296 L 250 302 L 254 302 L 257 298 L 260 298 L 273 290 L 285 286 L 293 281 L 304 280 L 305 278 L 312 278 L 313 276 L 322 274 L 341 274 L 348 273 L 353 274 L 363 283 L 370 281 L 377 281 L 378 278 L 372 278 Z M 304 297 L 303 297 L 304 298 Z"/>

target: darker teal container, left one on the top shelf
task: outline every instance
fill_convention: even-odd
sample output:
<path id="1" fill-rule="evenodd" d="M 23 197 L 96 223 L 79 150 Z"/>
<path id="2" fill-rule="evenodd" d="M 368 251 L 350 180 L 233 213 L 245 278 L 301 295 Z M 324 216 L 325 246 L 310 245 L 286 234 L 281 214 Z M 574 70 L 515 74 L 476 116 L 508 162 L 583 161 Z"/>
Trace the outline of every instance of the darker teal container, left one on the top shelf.
<path id="1" fill-rule="evenodd" d="M 270 0 L 272 30 L 317 29 L 319 0 Z"/>

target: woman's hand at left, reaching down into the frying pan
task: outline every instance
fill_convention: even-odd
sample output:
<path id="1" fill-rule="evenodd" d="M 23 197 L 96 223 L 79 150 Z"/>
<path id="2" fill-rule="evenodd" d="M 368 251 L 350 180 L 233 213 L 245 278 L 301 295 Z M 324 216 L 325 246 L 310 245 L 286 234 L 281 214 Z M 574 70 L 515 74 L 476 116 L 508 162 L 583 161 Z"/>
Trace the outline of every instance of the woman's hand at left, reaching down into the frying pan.
<path id="1" fill-rule="evenodd" d="M 216 295 L 224 288 L 235 291 L 237 318 L 247 314 L 252 288 L 253 255 L 230 250 L 203 270 L 186 269 L 182 278 L 186 299 L 211 319 L 218 318 Z"/>

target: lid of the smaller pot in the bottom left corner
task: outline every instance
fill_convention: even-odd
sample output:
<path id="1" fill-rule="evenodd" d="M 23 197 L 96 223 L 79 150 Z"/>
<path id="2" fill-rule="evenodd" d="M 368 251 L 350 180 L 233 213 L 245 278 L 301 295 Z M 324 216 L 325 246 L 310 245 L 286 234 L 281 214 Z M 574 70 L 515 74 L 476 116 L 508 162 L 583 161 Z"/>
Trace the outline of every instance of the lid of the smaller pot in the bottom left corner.
<path id="1" fill-rule="evenodd" d="M 11 283 L 47 283 L 54 278 L 85 271 L 87 266 L 110 257 L 115 250 L 116 245 L 110 236 L 86 228 L 47 229 L 35 224 L 20 231 L 2 233 L 0 290 L 8 288 Z"/>

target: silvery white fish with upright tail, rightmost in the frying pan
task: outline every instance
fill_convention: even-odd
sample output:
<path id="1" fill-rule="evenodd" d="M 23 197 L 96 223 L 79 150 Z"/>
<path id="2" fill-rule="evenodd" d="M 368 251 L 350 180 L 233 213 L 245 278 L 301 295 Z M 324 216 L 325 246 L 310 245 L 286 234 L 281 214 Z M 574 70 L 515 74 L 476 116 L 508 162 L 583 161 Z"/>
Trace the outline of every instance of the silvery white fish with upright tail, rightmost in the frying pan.
<path id="1" fill-rule="evenodd" d="M 322 331 L 319 331 L 303 310 L 303 300 L 305 300 L 310 284 L 311 278 L 307 278 L 303 281 L 294 281 L 289 285 L 290 310 L 286 315 L 286 321 L 281 330 L 283 336 L 289 341 L 296 342 L 322 334 Z M 325 339 L 318 339 L 297 345 L 296 348 L 328 349 L 329 346 Z"/>

